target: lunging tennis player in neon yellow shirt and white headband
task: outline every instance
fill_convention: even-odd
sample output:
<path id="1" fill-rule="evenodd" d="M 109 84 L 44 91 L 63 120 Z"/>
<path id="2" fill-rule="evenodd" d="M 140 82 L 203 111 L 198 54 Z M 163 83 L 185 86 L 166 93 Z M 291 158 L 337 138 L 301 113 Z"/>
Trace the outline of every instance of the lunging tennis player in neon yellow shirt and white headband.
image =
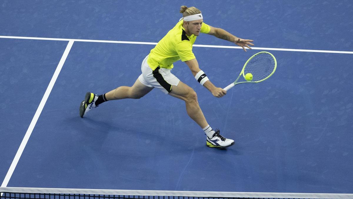
<path id="1" fill-rule="evenodd" d="M 208 76 L 199 68 L 192 45 L 200 33 L 214 35 L 217 38 L 231 41 L 238 46 L 251 49 L 249 45 L 253 40 L 240 39 L 221 28 L 214 28 L 203 23 L 200 10 L 195 7 L 180 7 L 183 17 L 151 50 L 142 61 L 142 74 L 135 83 L 129 86 L 120 86 L 103 95 L 87 92 L 84 101 L 80 104 L 80 116 L 83 117 L 92 108 L 99 104 L 115 100 L 133 98 L 139 99 L 156 88 L 165 94 L 177 97 L 185 101 L 187 114 L 205 132 L 208 147 L 226 148 L 234 144 L 234 140 L 220 135 L 218 129 L 213 130 L 207 123 L 204 114 L 198 104 L 196 92 L 188 85 L 181 82 L 170 70 L 173 63 L 180 60 L 189 66 L 196 81 L 206 87 L 213 96 L 223 97 L 227 91 L 216 87 L 211 83 Z"/>

